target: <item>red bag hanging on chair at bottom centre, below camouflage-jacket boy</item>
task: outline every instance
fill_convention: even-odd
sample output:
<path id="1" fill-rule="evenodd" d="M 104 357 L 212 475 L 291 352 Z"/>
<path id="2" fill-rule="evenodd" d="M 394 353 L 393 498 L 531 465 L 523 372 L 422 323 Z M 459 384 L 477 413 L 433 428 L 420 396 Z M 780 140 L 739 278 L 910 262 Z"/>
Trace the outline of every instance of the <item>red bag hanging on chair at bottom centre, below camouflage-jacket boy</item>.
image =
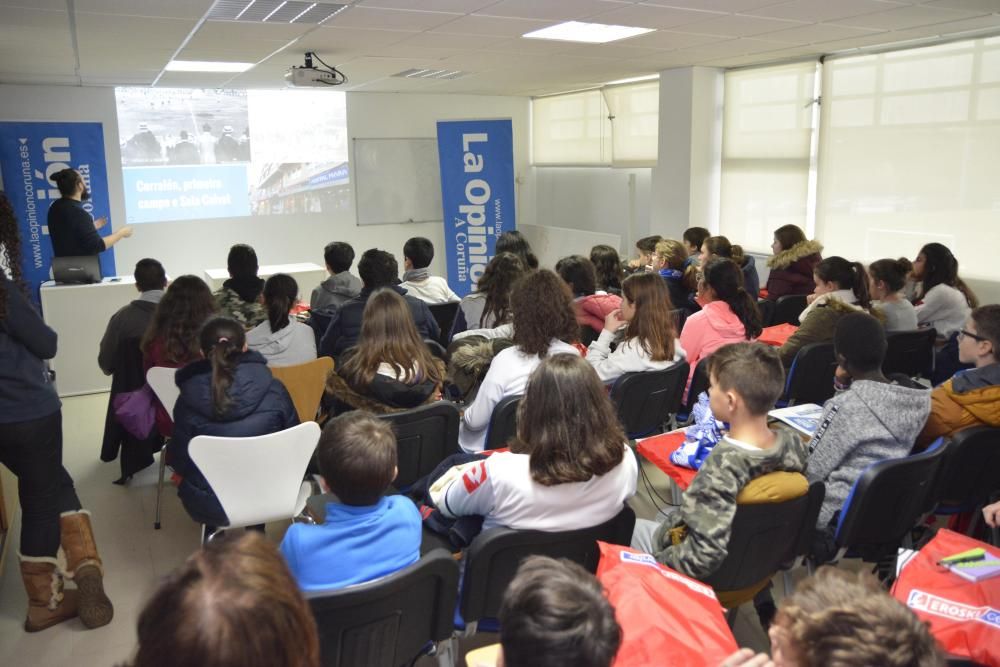
<path id="1" fill-rule="evenodd" d="M 649 554 L 598 542 L 597 578 L 622 627 L 614 667 L 717 667 L 739 650 L 711 586 Z"/>

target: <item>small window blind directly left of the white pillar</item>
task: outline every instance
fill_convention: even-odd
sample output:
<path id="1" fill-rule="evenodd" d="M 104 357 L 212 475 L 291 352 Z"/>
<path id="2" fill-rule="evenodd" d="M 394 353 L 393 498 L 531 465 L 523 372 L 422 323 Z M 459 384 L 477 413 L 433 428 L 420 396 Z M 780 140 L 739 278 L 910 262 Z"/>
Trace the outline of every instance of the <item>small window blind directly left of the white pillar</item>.
<path id="1" fill-rule="evenodd" d="M 660 82 L 609 86 L 601 91 L 611 113 L 611 160 L 616 167 L 656 165 Z"/>

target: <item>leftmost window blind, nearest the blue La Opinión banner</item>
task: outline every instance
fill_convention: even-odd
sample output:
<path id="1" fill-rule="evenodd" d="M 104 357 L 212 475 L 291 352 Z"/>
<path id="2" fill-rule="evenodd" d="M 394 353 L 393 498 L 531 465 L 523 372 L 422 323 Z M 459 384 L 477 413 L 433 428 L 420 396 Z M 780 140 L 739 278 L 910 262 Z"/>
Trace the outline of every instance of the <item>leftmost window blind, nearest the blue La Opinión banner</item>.
<path id="1" fill-rule="evenodd" d="M 537 165 L 610 165 L 611 121 L 600 90 L 532 100 Z"/>

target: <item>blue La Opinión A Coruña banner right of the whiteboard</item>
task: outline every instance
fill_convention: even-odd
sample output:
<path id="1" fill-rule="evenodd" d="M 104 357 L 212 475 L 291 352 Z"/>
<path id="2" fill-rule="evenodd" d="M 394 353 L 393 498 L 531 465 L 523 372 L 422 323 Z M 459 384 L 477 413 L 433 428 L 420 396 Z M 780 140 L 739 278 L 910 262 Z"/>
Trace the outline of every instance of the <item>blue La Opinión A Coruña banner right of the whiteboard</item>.
<path id="1" fill-rule="evenodd" d="M 473 290 L 514 220 L 514 131 L 510 119 L 441 121 L 438 155 L 448 284 Z"/>

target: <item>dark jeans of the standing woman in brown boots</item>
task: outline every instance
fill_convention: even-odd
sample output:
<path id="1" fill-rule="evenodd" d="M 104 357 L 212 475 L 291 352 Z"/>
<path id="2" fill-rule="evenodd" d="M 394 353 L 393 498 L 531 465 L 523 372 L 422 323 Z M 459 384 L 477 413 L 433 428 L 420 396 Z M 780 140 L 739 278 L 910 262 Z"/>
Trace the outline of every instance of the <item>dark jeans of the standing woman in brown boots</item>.
<path id="1" fill-rule="evenodd" d="M 54 558 L 59 515 L 80 509 L 73 478 L 62 464 L 62 411 L 0 424 L 0 462 L 17 476 L 21 553 Z"/>

